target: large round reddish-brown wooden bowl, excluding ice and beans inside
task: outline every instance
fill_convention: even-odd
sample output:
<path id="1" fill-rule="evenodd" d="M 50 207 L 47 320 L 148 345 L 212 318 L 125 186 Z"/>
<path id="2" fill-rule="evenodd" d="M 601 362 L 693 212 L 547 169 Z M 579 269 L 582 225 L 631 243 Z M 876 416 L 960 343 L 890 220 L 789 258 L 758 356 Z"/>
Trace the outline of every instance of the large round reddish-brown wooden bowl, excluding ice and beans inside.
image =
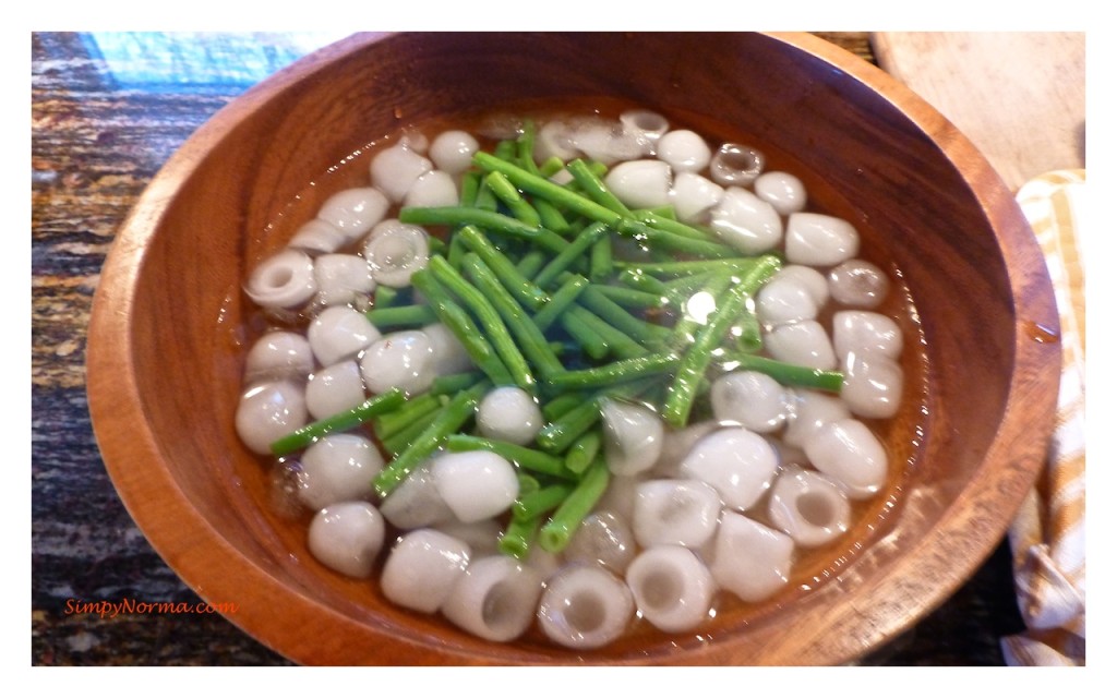
<path id="1" fill-rule="evenodd" d="M 907 367 L 923 399 L 888 434 L 906 460 L 896 487 L 859 523 L 848 560 L 800 581 L 810 593 L 793 585 L 719 613 L 700 635 L 579 656 L 476 640 L 322 568 L 269 510 L 268 475 L 232 414 L 247 342 L 240 284 L 344 180 L 355 149 L 414 121 L 595 96 L 750 134 L 793 159 L 910 290 L 906 338 L 923 351 Z M 298 662 L 828 664 L 910 627 L 1001 539 L 1044 457 L 1058 327 L 1043 259 L 989 163 L 926 103 L 819 39 L 356 36 L 230 104 L 152 181 L 101 278 L 89 407 L 113 481 L 159 553 Z"/>

